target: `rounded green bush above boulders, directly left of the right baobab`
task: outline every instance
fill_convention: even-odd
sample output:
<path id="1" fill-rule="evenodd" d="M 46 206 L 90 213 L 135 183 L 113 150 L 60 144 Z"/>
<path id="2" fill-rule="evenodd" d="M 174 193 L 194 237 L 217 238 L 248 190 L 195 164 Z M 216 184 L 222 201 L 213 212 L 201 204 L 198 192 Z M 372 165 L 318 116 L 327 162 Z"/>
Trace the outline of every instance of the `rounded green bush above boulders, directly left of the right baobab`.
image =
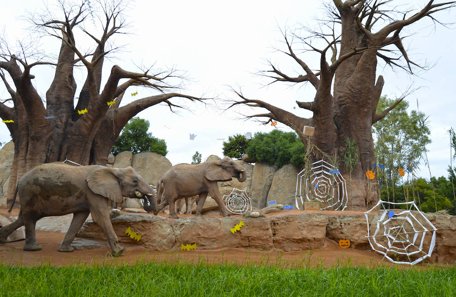
<path id="1" fill-rule="evenodd" d="M 288 163 L 302 167 L 306 147 L 296 133 L 273 130 L 255 133 L 245 152 L 255 161 L 274 164 L 279 168 Z"/>

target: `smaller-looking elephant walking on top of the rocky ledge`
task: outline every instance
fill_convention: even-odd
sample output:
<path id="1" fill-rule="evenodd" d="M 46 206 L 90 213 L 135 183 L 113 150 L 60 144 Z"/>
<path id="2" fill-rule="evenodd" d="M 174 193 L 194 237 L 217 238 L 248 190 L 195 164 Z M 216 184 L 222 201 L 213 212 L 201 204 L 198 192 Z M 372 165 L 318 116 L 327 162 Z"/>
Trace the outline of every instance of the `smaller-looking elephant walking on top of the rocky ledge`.
<path id="1" fill-rule="evenodd" d="M 223 204 L 217 181 L 228 181 L 232 177 L 245 181 L 246 172 L 242 166 L 231 158 L 225 157 L 218 161 L 204 162 L 197 165 L 177 164 L 171 167 L 157 182 L 157 205 L 154 213 L 159 213 L 169 204 L 169 217 L 178 218 L 174 203 L 177 199 L 199 195 L 195 215 L 201 215 L 204 202 L 209 194 L 217 202 L 223 216 L 230 215 Z"/>

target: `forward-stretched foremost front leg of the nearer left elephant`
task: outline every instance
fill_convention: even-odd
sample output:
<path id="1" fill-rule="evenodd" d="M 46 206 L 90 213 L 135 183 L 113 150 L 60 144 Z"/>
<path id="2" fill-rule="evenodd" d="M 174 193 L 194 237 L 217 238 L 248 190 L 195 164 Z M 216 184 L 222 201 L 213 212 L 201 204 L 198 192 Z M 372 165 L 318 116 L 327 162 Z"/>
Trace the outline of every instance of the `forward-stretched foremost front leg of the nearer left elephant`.
<path id="1" fill-rule="evenodd" d="M 92 218 L 96 221 L 98 226 L 100 226 L 101 230 L 103 230 L 112 253 L 114 255 L 120 255 L 125 250 L 125 247 L 121 247 L 118 244 L 119 239 L 117 238 L 116 232 L 112 227 L 111 219 L 109 218 L 107 199 L 104 197 L 89 197 L 88 201 Z"/>

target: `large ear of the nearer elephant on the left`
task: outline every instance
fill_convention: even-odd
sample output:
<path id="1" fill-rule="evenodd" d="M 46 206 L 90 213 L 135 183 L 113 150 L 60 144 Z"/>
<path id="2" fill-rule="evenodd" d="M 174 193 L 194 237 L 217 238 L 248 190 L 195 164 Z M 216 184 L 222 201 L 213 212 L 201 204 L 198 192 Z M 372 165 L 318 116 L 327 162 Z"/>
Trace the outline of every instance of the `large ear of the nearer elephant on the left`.
<path id="1" fill-rule="evenodd" d="M 109 167 L 96 166 L 86 177 L 89 189 L 93 193 L 109 198 L 114 202 L 122 202 L 122 190 L 114 170 Z"/>

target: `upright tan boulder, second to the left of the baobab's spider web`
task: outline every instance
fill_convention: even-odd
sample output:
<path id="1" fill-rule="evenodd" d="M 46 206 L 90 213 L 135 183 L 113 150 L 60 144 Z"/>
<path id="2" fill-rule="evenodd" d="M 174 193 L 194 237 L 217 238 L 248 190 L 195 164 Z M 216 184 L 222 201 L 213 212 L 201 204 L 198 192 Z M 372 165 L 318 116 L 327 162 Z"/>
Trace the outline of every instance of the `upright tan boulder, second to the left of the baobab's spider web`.
<path id="1" fill-rule="evenodd" d="M 253 166 L 252 184 L 250 186 L 250 199 L 252 206 L 263 208 L 268 200 L 269 189 L 277 168 L 263 162 L 256 162 Z"/>

